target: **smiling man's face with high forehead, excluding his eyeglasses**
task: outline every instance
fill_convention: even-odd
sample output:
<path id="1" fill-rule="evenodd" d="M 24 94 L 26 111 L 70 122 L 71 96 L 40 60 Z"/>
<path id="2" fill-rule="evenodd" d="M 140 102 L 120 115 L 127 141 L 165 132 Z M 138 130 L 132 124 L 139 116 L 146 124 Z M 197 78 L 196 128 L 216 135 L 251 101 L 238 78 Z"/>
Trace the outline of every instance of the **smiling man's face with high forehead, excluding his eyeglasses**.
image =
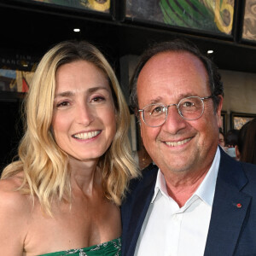
<path id="1" fill-rule="evenodd" d="M 207 71 L 195 55 L 160 53 L 143 67 L 137 80 L 137 96 L 140 109 L 152 103 L 177 104 L 186 96 L 211 96 Z M 166 123 L 160 127 L 145 125 L 141 116 L 143 144 L 165 175 L 201 172 L 211 166 L 218 147 L 220 98 L 217 113 L 212 99 L 207 99 L 204 113 L 196 120 L 183 119 L 175 106 L 168 108 Z"/>

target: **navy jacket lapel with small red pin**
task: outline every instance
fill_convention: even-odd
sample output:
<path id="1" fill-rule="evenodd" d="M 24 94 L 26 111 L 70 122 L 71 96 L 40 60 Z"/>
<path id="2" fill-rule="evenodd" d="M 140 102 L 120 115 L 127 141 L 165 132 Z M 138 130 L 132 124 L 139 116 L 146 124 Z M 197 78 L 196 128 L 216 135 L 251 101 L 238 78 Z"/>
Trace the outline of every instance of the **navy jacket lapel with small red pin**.
<path id="1" fill-rule="evenodd" d="M 251 201 L 241 192 L 246 183 L 240 163 L 221 150 L 205 256 L 233 255 Z"/>

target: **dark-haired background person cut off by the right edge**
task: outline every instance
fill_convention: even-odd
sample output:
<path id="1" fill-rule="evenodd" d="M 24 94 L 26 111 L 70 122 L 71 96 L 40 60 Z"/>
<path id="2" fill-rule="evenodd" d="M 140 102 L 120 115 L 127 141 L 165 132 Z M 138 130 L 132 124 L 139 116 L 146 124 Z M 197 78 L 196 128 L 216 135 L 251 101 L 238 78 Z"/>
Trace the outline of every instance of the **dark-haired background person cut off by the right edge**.
<path id="1" fill-rule="evenodd" d="M 235 148 L 238 160 L 256 165 L 256 119 L 241 127 Z"/>

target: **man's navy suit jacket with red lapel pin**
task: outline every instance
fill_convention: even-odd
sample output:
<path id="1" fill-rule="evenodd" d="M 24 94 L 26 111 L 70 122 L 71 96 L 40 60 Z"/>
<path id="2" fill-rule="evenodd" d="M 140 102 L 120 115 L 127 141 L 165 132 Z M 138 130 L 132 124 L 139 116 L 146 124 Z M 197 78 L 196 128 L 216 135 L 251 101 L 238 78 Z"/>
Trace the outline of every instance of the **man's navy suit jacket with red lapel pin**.
<path id="1" fill-rule="evenodd" d="M 204 255 L 253 256 L 256 255 L 256 166 L 233 160 L 222 149 L 220 151 Z M 157 171 L 157 166 L 150 165 L 143 170 L 143 177 L 131 181 L 130 193 L 121 207 L 123 256 L 134 255 L 154 195 Z"/>

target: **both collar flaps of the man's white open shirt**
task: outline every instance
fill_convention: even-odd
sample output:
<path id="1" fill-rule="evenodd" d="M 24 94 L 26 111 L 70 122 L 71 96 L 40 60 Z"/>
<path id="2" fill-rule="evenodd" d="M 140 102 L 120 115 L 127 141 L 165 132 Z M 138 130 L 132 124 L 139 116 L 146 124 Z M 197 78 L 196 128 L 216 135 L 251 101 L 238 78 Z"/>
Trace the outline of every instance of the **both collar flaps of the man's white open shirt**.
<path id="1" fill-rule="evenodd" d="M 212 166 L 210 167 L 209 172 L 207 172 L 206 177 L 203 179 L 202 183 L 194 193 L 194 195 L 197 195 L 198 197 L 200 197 L 202 201 L 205 201 L 211 207 L 212 207 L 213 197 L 215 193 L 216 180 L 218 176 L 219 161 L 220 161 L 220 151 L 219 151 L 219 148 L 217 148 L 217 151 L 212 161 Z M 158 170 L 158 173 L 157 173 L 156 183 L 154 186 L 154 196 L 152 198 L 151 203 L 154 202 L 156 195 L 158 195 L 159 192 L 161 192 L 161 194 L 163 196 L 166 196 L 167 198 L 170 197 L 167 193 L 165 177 L 162 174 L 162 172 L 160 172 L 160 169 Z M 194 195 L 192 195 L 191 198 Z"/>

